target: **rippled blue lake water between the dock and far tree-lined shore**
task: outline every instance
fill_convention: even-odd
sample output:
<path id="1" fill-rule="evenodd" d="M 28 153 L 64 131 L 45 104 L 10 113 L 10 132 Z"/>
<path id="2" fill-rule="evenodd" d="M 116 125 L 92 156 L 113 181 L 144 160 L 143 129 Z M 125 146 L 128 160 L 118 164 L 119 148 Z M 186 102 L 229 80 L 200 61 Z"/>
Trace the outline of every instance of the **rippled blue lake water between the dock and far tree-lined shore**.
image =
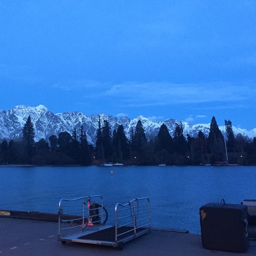
<path id="1" fill-rule="evenodd" d="M 148 197 L 152 227 L 194 234 L 202 205 L 256 199 L 255 166 L 1 167 L 0 181 L 1 210 L 57 213 L 62 198 L 101 195 L 114 225 L 117 202 Z"/>

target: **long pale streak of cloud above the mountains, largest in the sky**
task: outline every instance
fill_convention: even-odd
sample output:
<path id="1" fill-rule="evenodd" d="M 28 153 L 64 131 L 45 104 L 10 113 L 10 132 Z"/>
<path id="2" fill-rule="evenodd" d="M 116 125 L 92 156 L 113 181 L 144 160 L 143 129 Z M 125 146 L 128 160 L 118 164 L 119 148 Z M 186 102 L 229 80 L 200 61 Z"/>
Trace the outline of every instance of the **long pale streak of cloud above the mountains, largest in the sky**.
<path id="1" fill-rule="evenodd" d="M 172 84 L 164 82 L 126 82 L 113 85 L 102 95 L 121 98 L 125 106 L 163 106 L 200 102 L 242 101 L 252 97 L 246 84 L 210 82 L 195 84 Z"/>

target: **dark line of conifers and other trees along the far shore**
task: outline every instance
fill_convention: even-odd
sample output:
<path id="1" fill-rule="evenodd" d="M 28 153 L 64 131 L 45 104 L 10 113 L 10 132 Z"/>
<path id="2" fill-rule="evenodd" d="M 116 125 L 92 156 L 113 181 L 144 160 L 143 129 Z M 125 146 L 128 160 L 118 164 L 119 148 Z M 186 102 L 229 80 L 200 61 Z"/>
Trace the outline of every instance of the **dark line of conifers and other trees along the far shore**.
<path id="1" fill-rule="evenodd" d="M 33 165 L 100 165 L 119 162 L 125 165 L 199 165 L 219 161 L 240 165 L 256 165 L 256 138 L 234 136 L 232 122 L 225 120 L 225 133 L 218 128 L 215 117 L 210 123 L 208 137 L 199 131 L 194 138 L 184 136 L 184 127 L 176 122 L 173 134 L 162 124 L 154 140 L 147 140 L 142 122 L 131 127 L 129 139 L 124 127 L 117 124 L 111 132 L 108 120 L 98 121 L 96 145 L 88 144 L 86 131 L 80 126 L 72 134 L 60 132 L 46 142 L 34 141 L 35 129 L 28 116 L 22 129 L 22 139 L 3 140 L 0 144 L 0 164 Z M 227 154 L 226 154 L 227 149 Z"/>

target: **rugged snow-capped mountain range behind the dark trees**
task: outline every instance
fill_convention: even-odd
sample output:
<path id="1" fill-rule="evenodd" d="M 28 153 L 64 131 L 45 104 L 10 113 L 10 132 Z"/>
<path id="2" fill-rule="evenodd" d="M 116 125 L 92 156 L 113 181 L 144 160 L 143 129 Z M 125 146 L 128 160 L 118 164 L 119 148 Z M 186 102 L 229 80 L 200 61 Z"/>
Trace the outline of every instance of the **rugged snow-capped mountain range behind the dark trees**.
<path id="1" fill-rule="evenodd" d="M 69 132 L 72 134 L 74 128 L 76 128 L 79 134 L 80 127 L 83 125 L 84 131 L 86 131 L 87 134 L 88 143 L 95 144 L 99 116 L 102 124 L 103 120 L 108 120 L 112 130 L 116 128 L 116 124 L 122 124 L 124 126 L 124 131 L 127 138 L 129 138 L 130 127 L 133 127 L 135 131 L 138 120 L 141 120 L 148 140 L 154 139 L 163 123 L 166 125 L 171 135 L 173 135 L 175 123 L 177 121 L 182 122 L 185 137 L 186 134 L 189 134 L 192 137 L 197 137 L 200 130 L 207 137 L 210 130 L 210 123 L 192 125 L 188 122 L 174 120 L 172 118 L 160 122 L 152 121 L 143 116 L 138 116 L 130 120 L 127 117 L 118 119 L 107 114 L 92 114 L 90 116 L 86 116 L 82 112 L 65 112 L 63 114 L 54 114 L 43 105 L 39 105 L 37 107 L 19 105 L 10 110 L 0 110 L 0 140 L 22 138 L 22 128 L 28 119 L 28 116 L 31 117 L 34 124 L 35 141 L 38 141 L 41 138 L 48 141 L 51 135 L 58 136 L 60 132 Z M 219 126 L 219 128 L 221 131 L 223 130 L 223 126 Z M 256 128 L 248 131 L 246 129 L 236 128 L 233 126 L 233 131 L 235 135 L 240 133 L 243 136 L 248 136 L 248 138 L 256 137 Z"/>

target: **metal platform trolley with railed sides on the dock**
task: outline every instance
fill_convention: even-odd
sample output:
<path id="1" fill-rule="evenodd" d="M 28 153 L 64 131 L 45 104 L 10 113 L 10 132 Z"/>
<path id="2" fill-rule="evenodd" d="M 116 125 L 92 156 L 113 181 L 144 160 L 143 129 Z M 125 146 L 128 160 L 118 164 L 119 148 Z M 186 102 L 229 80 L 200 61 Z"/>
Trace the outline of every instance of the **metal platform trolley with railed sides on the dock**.
<path id="1" fill-rule="evenodd" d="M 100 244 L 123 249 L 124 243 L 150 232 L 149 198 L 117 203 L 115 225 L 106 225 L 108 212 L 102 196 L 61 199 L 59 202 L 58 241 Z M 104 218 L 104 220 L 103 220 Z"/>

